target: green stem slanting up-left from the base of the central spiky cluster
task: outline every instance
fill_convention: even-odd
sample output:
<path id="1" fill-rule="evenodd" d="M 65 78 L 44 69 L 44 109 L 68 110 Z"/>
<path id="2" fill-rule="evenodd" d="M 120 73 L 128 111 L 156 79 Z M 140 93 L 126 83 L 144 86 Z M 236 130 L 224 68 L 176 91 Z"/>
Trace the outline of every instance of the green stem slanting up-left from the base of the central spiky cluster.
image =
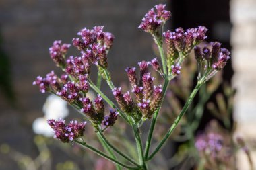
<path id="1" fill-rule="evenodd" d="M 108 99 L 108 97 L 106 97 L 106 95 L 104 95 L 104 93 L 100 89 L 98 89 L 98 87 L 96 85 L 94 85 L 94 83 L 92 83 L 92 80 L 89 79 L 89 78 L 88 78 L 88 83 L 89 83 L 90 87 L 92 87 L 92 89 L 94 89 L 94 91 L 96 91 L 106 101 L 106 103 L 108 103 L 108 105 L 110 105 L 114 109 L 117 109 L 117 111 L 119 112 L 120 116 L 126 122 L 129 123 L 129 120 L 127 119 L 125 114 L 123 114 L 123 112 L 121 110 L 119 110 L 119 108 L 117 108 L 117 106 L 110 99 Z"/>

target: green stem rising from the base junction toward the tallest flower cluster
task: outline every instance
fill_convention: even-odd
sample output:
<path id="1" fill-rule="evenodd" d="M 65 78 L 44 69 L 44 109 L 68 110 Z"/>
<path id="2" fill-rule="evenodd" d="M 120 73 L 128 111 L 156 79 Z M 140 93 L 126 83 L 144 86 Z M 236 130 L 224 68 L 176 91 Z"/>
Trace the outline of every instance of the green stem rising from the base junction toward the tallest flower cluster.
<path id="1" fill-rule="evenodd" d="M 152 134 L 154 132 L 154 128 L 155 128 L 155 125 L 156 125 L 156 120 L 158 118 L 158 113 L 160 111 L 160 108 L 161 108 L 161 105 L 162 105 L 162 102 L 164 101 L 164 96 L 166 94 L 166 91 L 167 91 L 167 87 L 169 85 L 170 81 L 168 79 L 165 79 L 164 81 L 164 87 L 163 87 L 163 97 L 162 97 L 162 101 L 160 103 L 160 106 L 159 108 L 156 110 L 156 112 L 154 113 L 154 116 L 153 116 L 153 120 L 150 124 L 150 132 L 148 132 L 148 139 L 147 139 L 147 142 L 146 142 L 146 147 L 145 147 L 145 154 L 144 154 L 144 157 L 147 159 L 148 158 L 148 153 L 150 151 L 150 144 L 151 144 L 151 140 L 152 140 Z"/>

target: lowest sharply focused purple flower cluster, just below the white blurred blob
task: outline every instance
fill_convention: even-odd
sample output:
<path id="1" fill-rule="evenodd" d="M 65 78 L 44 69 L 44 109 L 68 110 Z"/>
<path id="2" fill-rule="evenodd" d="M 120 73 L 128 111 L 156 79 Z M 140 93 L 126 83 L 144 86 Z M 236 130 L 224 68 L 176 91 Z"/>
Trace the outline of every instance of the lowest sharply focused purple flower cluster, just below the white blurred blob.
<path id="1" fill-rule="evenodd" d="M 65 124 L 65 120 L 47 120 L 49 126 L 53 129 L 54 137 L 61 142 L 68 143 L 84 135 L 86 122 L 78 123 L 76 120 Z"/>

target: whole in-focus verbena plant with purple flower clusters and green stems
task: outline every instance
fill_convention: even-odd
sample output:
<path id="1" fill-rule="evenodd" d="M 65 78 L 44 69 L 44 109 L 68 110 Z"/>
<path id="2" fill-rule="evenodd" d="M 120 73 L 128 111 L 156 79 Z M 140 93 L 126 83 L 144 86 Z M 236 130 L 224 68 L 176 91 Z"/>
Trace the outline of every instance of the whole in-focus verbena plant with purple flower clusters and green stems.
<path id="1" fill-rule="evenodd" d="M 131 93 L 130 91 L 123 93 L 121 87 L 116 87 L 111 80 L 107 54 L 113 45 L 114 37 L 113 34 L 103 32 L 103 26 L 95 26 L 92 30 L 84 28 L 78 32 L 81 39 L 73 38 L 73 46 L 79 50 L 81 56 L 66 58 L 67 50 L 71 45 L 61 44 L 61 41 L 53 42 L 53 46 L 49 48 L 51 58 L 57 67 L 60 67 L 65 73 L 61 77 L 57 77 L 51 71 L 45 78 L 37 77 L 33 84 L 38 85 L 42 93 L 50 92 L 58 95 L 81 113 L 92 124 L 98 139 L 108 153 L 104 153 L 86 142 L 84 138 L 86 122 L 72 120 L 69 124 L 65 124 L 65 120 L 48 120 L 49 126 L 53 128 L 55 138 L 89 149 L 101 157 L 113 161 L 117 169 L 149 169 L 148 162 L 164 146 L 191 105 L 197 91 L 218 71 L 222 70 L 230 58 L 230 52 L 226 48 L 221 48 L 218 42 L 212 42 L 203 48 L 197 46 L 207 38 L 205 36 L 207 28 L 204 26 L 187 30 L 177 28 L 174 32 L 170 30 L 164 32 L 164 24 L 171 15 L 165 7 L 166 5 L 160 4 L 156 5 L 154 9 L 150 9 L 139 25 L 141 30 L 152 36 L 158 46 L 161 62 L 158 62 L 157 58 L 150 62 L 139 62 L 139 77 L 136 75 L 135 67 L 127 67 L 125 71 L 131 83 Z M 166 50 L 163 48 L 164 42 Z M 183 61 L 188 58 L 193 49 L 198 67 L 197 85 L 187 98 L 177 118 L 170 125 L 164 138 L 150 152 L 156 120 L 168 85 L 174 77 L 181 73 Z M 92 65 L 98 68 L 96 83 L 90 78 Z M 150 75 L 148 68 L 150 65 L 162 77 L 164 81 L 162 85 L 153 85 L 154 77 Z M 100 90 L 102 79 L 106 81 L 113 92 L 117 105 Z M 98 93 L 94 101 L 86 97 L 90 88 Z M 106 114 L 106 103 L 113 108 L 109 114 Z M 115 124 L 119 116 L 133 129 L 138 161 L 111 144 L 104 134 L 107 128 Z M 151 121 L 151 125 L 148 138 L 146 142 L 143 142 L 140 128 L 146 120 Z"/>

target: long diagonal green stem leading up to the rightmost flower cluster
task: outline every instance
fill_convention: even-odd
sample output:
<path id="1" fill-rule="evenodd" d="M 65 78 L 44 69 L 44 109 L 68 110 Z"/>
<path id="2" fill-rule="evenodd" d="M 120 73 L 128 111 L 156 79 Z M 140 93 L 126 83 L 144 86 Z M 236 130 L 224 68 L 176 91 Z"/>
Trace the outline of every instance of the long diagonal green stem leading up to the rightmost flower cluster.
<path id="1" fill-rule="evenodd" d="M 203 81 L 202 81 L 203 82 Z M 203 85 L 201 83 L 201 81 L 199 81 L 195 87 L 195 89 L 192 91 L 191 95 L 189 96 L 189 99 L 187 100 L 187 102 L 185 103 L 183 109 L 181 110 L 179 116 L 174 120 L 174 123 L 172 124 L 172 126 L 170 126 L 170 129 L 168 130 L 168 132 L 166 133 L 166 135 L 164 136 L 164 138 L 160 141 L 160 143 L 158 144 L 158 146 L 156 146 L 156 149 L 153 151 L 153 153 L 148 157 L 147 160 L 150 160 L 154 157 L 154 155 L 156 155 L 156 153 L 158 153 L 158 151 L 160 150 L 160 148 L 163 146 L 163 144 L 166 142 L 166 140 L 170 137 L 170 134 L 172 134 L 172 132 L 174 131 L 174 129 L 177 127 L 177 125 L 179 124 L 179 121 L 181 120 L 181 118 L 183 117 L 183 114 L 185 114 L 185 112 L 187 111 L 187 108 L 189 108 L 189 105 L 191 104 L 191 102 L 193 101 L 193 98 L 195 97 L 195 95 L 197 94 L 197 91 L 200 89 L 201 85 Z"/>

